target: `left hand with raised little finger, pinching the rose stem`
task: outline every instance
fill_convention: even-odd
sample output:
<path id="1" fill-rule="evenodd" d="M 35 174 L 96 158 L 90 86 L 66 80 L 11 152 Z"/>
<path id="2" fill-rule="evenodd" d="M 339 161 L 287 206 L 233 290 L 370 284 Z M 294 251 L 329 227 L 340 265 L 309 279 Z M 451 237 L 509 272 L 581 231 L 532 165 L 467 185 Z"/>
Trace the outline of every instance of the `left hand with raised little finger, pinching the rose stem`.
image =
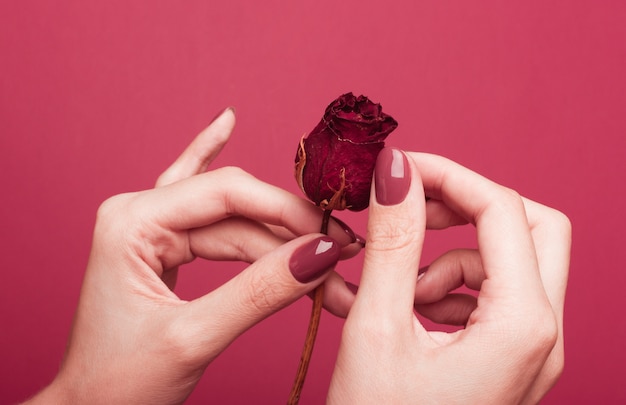
<path id="1" fill-rule="evenodd" d="M 226 110 L 155 189 L 102 204 L 66 357 L 33 402 L 181 403 L 237 336 L 322 283 L 341 250 L 358 251 L 336 222 L 316 234 L 322 214 L 307 201 L 241 169 L 203 173 L 234 123 Z M 196 257 L 253 264 L 183 301 L 177 269 Z"/>

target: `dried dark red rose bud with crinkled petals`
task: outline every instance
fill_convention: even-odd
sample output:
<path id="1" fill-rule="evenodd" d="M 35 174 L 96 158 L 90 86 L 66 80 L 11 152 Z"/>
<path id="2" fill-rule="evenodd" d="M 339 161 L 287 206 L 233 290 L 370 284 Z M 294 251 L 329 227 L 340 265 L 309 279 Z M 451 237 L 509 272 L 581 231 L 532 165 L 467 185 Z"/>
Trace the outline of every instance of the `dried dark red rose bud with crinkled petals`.
<path id="1" fill-rule="evenodd" d="M 367 208 L 376 157 L 397 126 L 380 104 L 367 97 L 340 96 L 326 108 L 315 129 L 300 140 L 298 185 L 323 209 Z"/>

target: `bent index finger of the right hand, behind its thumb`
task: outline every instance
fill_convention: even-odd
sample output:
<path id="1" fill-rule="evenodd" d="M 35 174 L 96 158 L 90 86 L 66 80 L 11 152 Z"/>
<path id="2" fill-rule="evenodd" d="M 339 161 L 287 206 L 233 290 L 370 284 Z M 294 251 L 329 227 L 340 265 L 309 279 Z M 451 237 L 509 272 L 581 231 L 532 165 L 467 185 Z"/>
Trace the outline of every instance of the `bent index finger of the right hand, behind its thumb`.
<path id="1" fill-rule="evenodd" d="M 486 285 L 498 298 L 544 300 L 535 247 L 519 194 L 441 156 L 410 153 L 426 194 L 476 226 Z"/>

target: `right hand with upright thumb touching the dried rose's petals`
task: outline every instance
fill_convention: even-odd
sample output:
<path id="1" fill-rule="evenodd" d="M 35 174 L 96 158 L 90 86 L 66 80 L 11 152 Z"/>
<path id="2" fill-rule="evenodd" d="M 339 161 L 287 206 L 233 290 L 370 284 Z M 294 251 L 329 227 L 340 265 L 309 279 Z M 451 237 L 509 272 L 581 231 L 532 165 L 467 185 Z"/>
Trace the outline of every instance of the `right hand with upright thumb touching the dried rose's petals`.
<path id="1" fill-rule="evenodd" d="M 374 187 L 329 403 L 538 402 L 563 368 L 568 219 L 423 153 L 383 150 Z M 425 229 L 467 222 L 478 249 L 418 271 Z M 427 331 L 415 309 L 465 328 Z"/>

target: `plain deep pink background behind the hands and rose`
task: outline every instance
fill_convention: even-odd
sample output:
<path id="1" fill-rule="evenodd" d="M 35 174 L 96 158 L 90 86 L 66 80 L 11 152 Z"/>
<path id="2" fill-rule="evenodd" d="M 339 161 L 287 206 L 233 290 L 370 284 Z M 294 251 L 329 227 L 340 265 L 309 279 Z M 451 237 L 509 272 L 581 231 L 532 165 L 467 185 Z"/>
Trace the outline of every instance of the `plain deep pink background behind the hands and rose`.
<path id="1" fill-rule="evenodd" d="M 299 193 L 297 141 L 346 91 L 398 120 L 389 144 L 571 218 L 566 366 L 545 403 L 626 401 L 626 7 L 515 3 L 1 1 L 0 402 L 53 378 L 105 198 L 151 187 L 229 105 L 238 125 L 216 165 Z M 365 213 L 339 216 L 364 233 Z M 424 261 L 472 243 L 469 230 L 429 233 Z M 358 282 L 360 260 L 339 271 Z M 194 263 L 177 292 L 241 268 Z M 189 403 L 284 403 L 309 307 L 241 337 Z M 304 404 L 325 397 L 341 326 L 322 318 Z"/>

